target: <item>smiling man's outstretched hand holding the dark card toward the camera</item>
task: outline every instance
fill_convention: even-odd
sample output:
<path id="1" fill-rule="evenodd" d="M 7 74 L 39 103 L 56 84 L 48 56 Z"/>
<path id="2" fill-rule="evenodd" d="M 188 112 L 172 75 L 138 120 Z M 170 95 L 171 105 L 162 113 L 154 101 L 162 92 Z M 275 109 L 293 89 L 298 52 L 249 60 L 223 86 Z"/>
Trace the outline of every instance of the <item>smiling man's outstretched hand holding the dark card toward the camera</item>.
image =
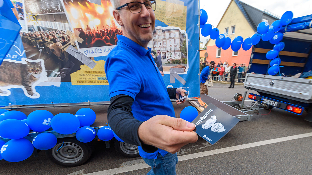
<path id="1" fill-rule="evenodd" d="M 184 145 L 197 141 L 198 137 L 194 129 L 193 123 L 181 118 L 158 115 L 144 121 L 139 126 L 138 135 L 144 144 L 174 154 Z"/>

